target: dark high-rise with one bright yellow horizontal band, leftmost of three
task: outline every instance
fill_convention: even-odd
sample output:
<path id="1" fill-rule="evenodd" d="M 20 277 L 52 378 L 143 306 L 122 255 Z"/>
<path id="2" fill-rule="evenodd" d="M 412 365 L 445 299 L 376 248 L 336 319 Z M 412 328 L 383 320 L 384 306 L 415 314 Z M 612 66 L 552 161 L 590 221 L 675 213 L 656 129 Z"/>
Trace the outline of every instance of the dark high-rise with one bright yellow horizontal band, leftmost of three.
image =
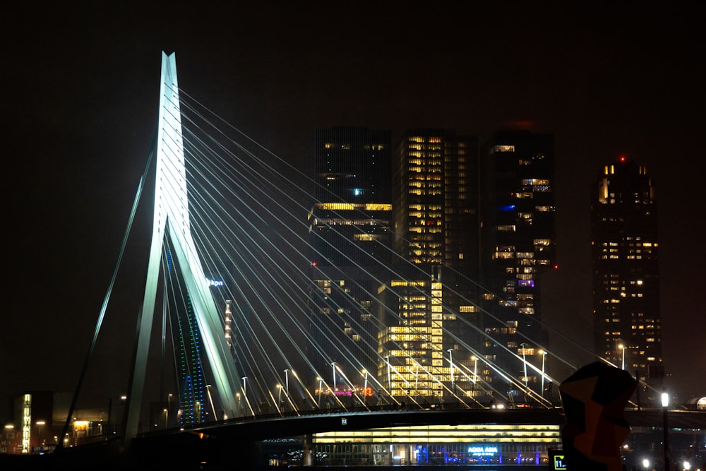
<path id="1" fill-rule="evenodd" d="M 380 271 L 390 258 L 390 148 L 390 131 L 316 131 L 315 201 L 309 215 L 316 289 L 308 357 L 329 386 L 334 386 L 336 368 L 362 385 L 361 371 L 376 365 L 373 311 Z M 332 389 L 344 384 L 339 381 Z"/>

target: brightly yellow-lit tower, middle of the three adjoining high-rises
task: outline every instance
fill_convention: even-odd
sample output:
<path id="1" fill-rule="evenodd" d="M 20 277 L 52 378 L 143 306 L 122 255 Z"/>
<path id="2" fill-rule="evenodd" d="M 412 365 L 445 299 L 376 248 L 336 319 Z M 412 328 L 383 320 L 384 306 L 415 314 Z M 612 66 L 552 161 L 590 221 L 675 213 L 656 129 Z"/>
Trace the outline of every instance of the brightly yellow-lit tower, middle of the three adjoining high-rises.
<path id="1" fill-rule="evenodd" d="M 408 130 L 393 154 L 401 262 L 381 288 L 378 378 L 392 396 L 472 396 L 478 335 L 477 138 Z"/>

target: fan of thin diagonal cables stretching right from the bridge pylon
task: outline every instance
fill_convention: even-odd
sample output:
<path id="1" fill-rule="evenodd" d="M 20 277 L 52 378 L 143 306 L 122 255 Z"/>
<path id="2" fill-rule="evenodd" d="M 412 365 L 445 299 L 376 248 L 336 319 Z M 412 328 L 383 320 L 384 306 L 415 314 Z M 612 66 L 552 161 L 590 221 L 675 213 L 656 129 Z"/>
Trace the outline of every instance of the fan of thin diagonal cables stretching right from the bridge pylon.
<path id="1" fill-rule="evenodd" d="M 360 333 L 359 341 L 352 345 L 334 344 L 337 360 L 330 361 L 332 345 L 324 346 L 321 339 L 336 338 L 337 332 L 328 323 L 321 322 L 318 307 L 322 303 L 321 286 L 317 285 L 315 280 L 325 280 L 329 285 L 335 285 L 337 280 L 342 278 L 348 278 L 353 284 L 357 282 L 354 277 L 347 277 L 342 271 L 343 268 L 323 270 L 311 263 L 311 254 L 316 251 L 316 245 L 312 243 L 307 215 L 312 205 L 317 203 L 311 196 L 311 189 L 317 184 L 316 181 L 302 169 L 289 164 L 244 136 L 183 90 L 179 90 L 179 96 L 182 113 L 181 136 L 184 140 L 189 194 L 189 230 L 199 251 L 195 259 L 201 260 L 203 273 L 206 273 L 207 277 L 211 276 L 211 282 L 222 282 L 216 297 L 217 304 L 223 308 L 224 315 L 221 320 L 224 335 L 229 329 L 228 333 L 232 338 L 231 360 L 236 362 L 237 371 L 245 375 L 241 378 L 242 383 L 235 388 L 239 390 L 243 404 L 241 410 L 224 411 L 224 415 L 258 415 L 282 413 L 285 409 L 298 411 L 302 408 L 325 407 L 321 400 L 322 390 L 326 391 L 328 407 L 369 407 L 372 404 L 365 397 L 364 388 L 360 387 L 362 383 L 369 384 L 375 391 L 376 405 L 400 406 L 407 399 L 414 407 L 429 407 L 429 398 L 414 394 L 400 398 L 383 385 L 385 374 L 388 378 L 395 375 L 400 381 L 407 383 L 409 390 L 416 390 L 412 381 L 405 379 L 397 371 L 397 366 L 390 364 L 389 357 L 383 356 L 378 348 L 377 335 L 366 334 L 370 331 L 381 332 L 391 326 L 382 322 L 383 316 L 373 316 L 371 322 L 375 328 L 366 329 L 360 320 L 361 314 L 366 312 L 360 307 L 357 299 L 351 299 L 345 305 L 333 297 L 325 299 L 332 312 Z M 179 172 L 174 169 L 174 181 L 179 181 L 180 178 Z M 169 184 L 169 181 L 160 183 Z M 361 217 L 366 215 L 361 213 Z M 340 244 L 344 243 L 346 235 L 342 228 L 328 225 L 327 229 L 339 239 L 328 237 L 320 241 L 321 243 L 328 244 L 328 249 L 345 258 L 348 269 L 353 267 L 359 270 L 377 285 L 385 286 L 400 300 L 407 299 L 409 292 L 398 291 L 390 285 L 391 278 L 409 280 L 410 274 L 412 281 L 429 278 L 428 273 L 396 254 L 388 246 L 379 247 L 378 253 L 386 254 L 381 258 L 369 252 L 352 257 L 349 249 L 344 250 L 336 242 L 331 242 L 340 240 Z M 167 261 L 168 251 L 169 248 L 165 249 L 163 256 Z M 366 263 L 360 263 L 361 258 Z M 371 269 L 371 266 L 376 268 Z M 180 269 L 186 270 L 187 267 Z M 163 268 L 164 295 L 169 299 L 169 302 L 165 302 L 168 307 L 165 316 L 170 319 L 179 319 L 179 316 L 182 316 L 181 321 L 169 321 L 175 370 L 179 369 L 177 352 L 184 350 L 186 339 L 197 335 L 194 330 L 196 324 L 183 321 L 183 306 L 187 305 L 189 300 L 186 299 L 188 297 L 184 290 L 180 289 L 179 280 L 174 278 L 178 273 L 179 270 L 173 270 L 172 267 Z M 383 276 L 382 273 L 386 275 Z M 456 275 L 465 276 L 463 273 Z M 474 281 L 470 282 L 477 285 Z M 409 286 L 411 290 L 416 290 L 417 297 L 424 299 L 424 304 L 435 302 L 429 298 L 428 290 L 415 287 L 414 282 Z M 371 292 L 368 287 L 362 284 L 357 284 L 356 287 L 358 292 L 363 292 L 369 299 L 376 297 L 376 293 Z M 486 292 L 482 287 L 479 288 Z M 345 290 L 340 292 L 345 294 Z M 463 292 L 454 294 L 464 299 L 467 304 L 475 306 L 487 318 L 500 321 L 479 306 L 477 300 L 467 299 Z M 416 304 L 408 301 L 405 303 L 412 311 L 420 309 Z M 225 315 L 226 306 L 232 313 L 232 319 Z M 359 306 L 359 309 L 351 306 Z M 447 311 L 450 309 L 450 306 L 442 307 Z M 405 322 L 390 306 L 381 306 L 381 309 L 385 311 L 385 318 L 392 319 L 395 326 Z M 524 314 L 520 314 L 522 315 Z M 479 338 L 496 342 L 493 335 L 481 326 L 471 323 L 464 316 L 457 318 L 465 323 L 467 328 L 476 332 Z M 408 329 L 411 333 L 425 335 L 421 328 L 408 326 Z M 520 354 L 503 346 L 504 350 L 517 360 L 517 370 L 524 367 L 523 379 L 493 364 L 491 359 L 486 359 L 482 345 L 469 345 L 467 339 L 450 329 L 444 329 L 443 335 L 453 339 L 464 352 L 479 359 L 484 369 L 503 380 L 503 386 L 508 384 L 521 390 L 528 402 L 551 407 L 550 400 L 527 386 L 528 368 L 541 374 L 546 381 L 556 383 L 543 368 L 540 370 L 538 366 L 529 364 Z M 525 340 L 537 343 L 534 339 Z M 393 342 L 400 351 L 407 350 L 404 342 Z M 502 345 L 501 342 L 497 343 Z M 548 349 L 544 350 L 559 362 L 571 366 Z M 330 364 L 331 369 L 324 371 L 321 364 Z M 370 364 L 376 365 L 377 371 L 367 371 L 366 365 Z M 208 366 L 198 363 L 201 371 L 193 371 L 195 365 L 196 363 L 182 365 L 181 368 L 186 373 L 181 375 L 175 371 L 175 377 L 181 378 L 179 388 L 184 388 L 183 378 L 186 376 L 192 378 L 191 381 L 199 374 L 208 377 Z M 481 403 L 477 395 L 470 395 L 467 390 L 456 387 L 458 385 L 453 381 L 455 371 L 457 377 L 462 379 L 459 383 L 472 383 L 488 396 L 512 400 L 507 389 L 500 388 L 500 383 L 484 381 L 479 378 L 477 371 L 472 371 L 463 362 L 453 363 L 450 358 L 446 366 L 451 371 L 450 384 L 448 380 L 442 381 L 440 366 L 419 362 L 414 365 L 415 377 L 426 375 L 436 378 L 433 381 L 436 381 L 438 389 L 443 391 L 445 397 L 457 400 L 457 404 L 464 407 Z M 208 382 L 208 379 L 203 381 Z M 339 387 L 349 391 L 350 400 L 342 400 L 342 396 L 330 394 Z M 213 400 L 209 397 L 200 400 L 207 399 L 210 401 L 214 417 L 218 418 L 219 414 L 213 402 L 219 403 L 219 399 Z"/>

